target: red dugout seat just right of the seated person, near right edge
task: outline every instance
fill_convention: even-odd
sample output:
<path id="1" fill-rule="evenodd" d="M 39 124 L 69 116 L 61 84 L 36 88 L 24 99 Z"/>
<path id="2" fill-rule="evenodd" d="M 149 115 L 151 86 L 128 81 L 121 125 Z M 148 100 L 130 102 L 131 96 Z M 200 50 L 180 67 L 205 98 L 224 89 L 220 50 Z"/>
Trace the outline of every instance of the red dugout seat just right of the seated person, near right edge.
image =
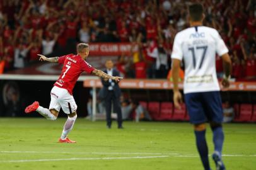
<path id="1" fill-rule="evenodd" d="M 235 119 L 235 122 L 249 122 L 252 117 L 252 105 L 241 104 L 240 115 Z"/>

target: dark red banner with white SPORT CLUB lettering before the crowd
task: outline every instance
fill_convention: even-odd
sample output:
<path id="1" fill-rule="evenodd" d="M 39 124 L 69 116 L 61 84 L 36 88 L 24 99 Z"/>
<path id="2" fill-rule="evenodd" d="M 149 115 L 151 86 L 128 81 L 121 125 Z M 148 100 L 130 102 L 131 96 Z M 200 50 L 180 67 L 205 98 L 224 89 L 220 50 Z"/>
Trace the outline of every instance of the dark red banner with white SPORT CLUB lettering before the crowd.
<path id="1" fill-rule="evenodd" d="M 90 43 L 89 48 L 90 55 L 131 55 L 132 43 Z"/>

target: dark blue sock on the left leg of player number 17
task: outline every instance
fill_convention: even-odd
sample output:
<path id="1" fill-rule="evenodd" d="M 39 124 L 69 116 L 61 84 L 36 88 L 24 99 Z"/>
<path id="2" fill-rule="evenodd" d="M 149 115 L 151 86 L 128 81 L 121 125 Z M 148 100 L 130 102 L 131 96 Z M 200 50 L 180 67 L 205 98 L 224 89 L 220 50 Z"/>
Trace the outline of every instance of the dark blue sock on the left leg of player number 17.
<path id="1" fill-rule="evenodd" d="M 210 169 L 209 159 L 208 159 L 208 147 L 206 143 L 206 130 L 195 131 L 195 139 L 197 144 L 197 150 L 200 154 L 202 164 L 205 170 Z"/>

